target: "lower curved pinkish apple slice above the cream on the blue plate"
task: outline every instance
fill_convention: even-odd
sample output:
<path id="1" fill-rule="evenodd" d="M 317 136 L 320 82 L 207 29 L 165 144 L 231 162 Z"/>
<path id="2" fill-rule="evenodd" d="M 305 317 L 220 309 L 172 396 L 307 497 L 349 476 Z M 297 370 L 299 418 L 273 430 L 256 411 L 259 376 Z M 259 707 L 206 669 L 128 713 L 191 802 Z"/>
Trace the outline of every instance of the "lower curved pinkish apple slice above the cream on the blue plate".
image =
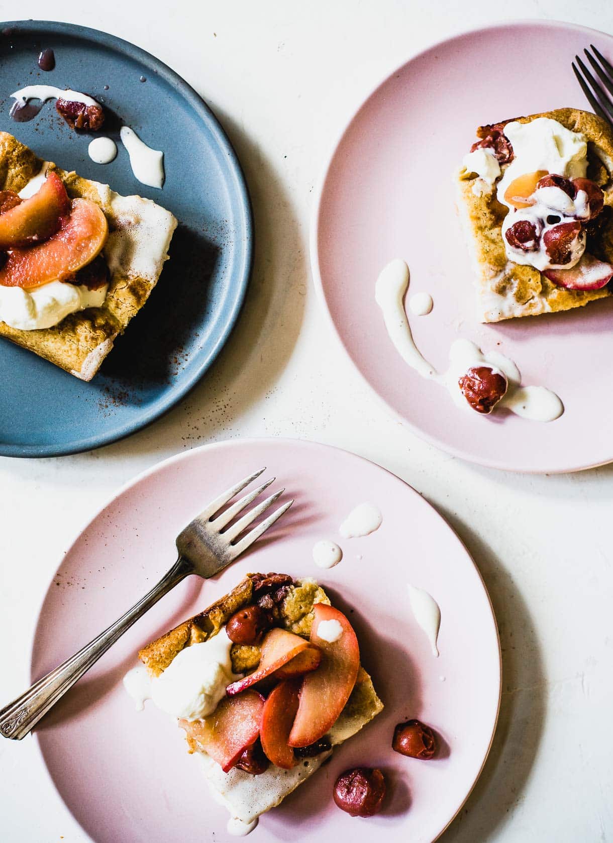
<path id="1" fill-rule="evenodd" d="M 19 211 L 25 202 L 13 208 Z M 13 211 L 7 211 L 7 214 Z M 6 214 L 0 215 L 0 220 Z M 95 202 L 73 199 L 70 214 L 60 217 L 60 228 L 44 243 L 13 249 L 0 270 L 4 287 L 40 287 L 62 281 L 87 266 L 102 251 L 109 234 L 106 217 Z"/>

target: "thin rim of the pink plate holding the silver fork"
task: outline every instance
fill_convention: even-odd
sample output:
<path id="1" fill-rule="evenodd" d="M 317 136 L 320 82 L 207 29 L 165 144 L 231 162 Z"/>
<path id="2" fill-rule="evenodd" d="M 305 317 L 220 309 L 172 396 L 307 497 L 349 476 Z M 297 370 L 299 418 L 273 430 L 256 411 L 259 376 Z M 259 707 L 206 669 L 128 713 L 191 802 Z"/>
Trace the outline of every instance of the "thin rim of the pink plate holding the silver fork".
<path id="1" fill-rule="evenodd" d="M 467 559 L 469 561 L 471 561 L 472 565 L 475 568 L 477 577 L 479 578 L 479 581 L 481 582 L 481 587 L 483 588 L 483 592 L 485 593 L 485 596 L 487 598 L 487 603 L 489 604 L 489 608 L 490 608 L 490 612 L 491 612 L 491 616 L 492 616 L 493 632 L 494 632 L 494 636 L 496 638 L 496 643 L 497 643 L 498 693 L 497 693 L 496 712 L 495 712 L 495 716 L 492 719 L 492 733 L 490 735 L 489 743 L 487 744 L 487 749 L 485 751 L 485 754 L 483 755 L 483 760 L 481 762 L 481 766 L 480 766 L 479 770 L 476 772 L 476 776 L 475 776 L 474 780 L 471 782 L 470 786 L 467 787 L 465 797 L 462 799 L 461 803 L 459 803 L 457 805 L 457 808 L 455 810 L 454 815 L 449 818 L 449 821 L 447 822 L 447 824 L 445 824 L 444 828 L 442 828 L 438 832 L 438 835 L 435 838 L 433 838 L 432 843 L 435 843 L 435 841 L 438 840 L 441 837 L 441 835 L 443 835 L 444 832 L 449 828 L 449 825 L 451 825 L 454 822 L 454 819 L 456 819 L 456 817 L 458 816 L 458 814 L 460 813 L 462 808 L 464 808 L 465 803 L 468 801 L 469 797 L 471 796 L 471 793 L 474 791 L 474 789 L 476 787 L 476 783 L 481 778 L 481 773 L 483 772 L 483 769 L 484 769 L 485 765 L 487 764 L 487 759 L 489 758 L 489 754 L 492 750 L 492 744 L 493 744 L 493 741 L 494 741 L 494 737 L 496 735 L 498 721 L 499 721 L 499 718 L 500 718 L 500 706 L 501 706 L 502 693 L 503 693 L 503 657 L 502 657 L 502 649 L 501 649 L 501 645 L 500 645 L 500 633 L 498 631 L 497 619 L 496 619 L 496 614 L 494 612 L 494 607 L 493 607 L 493 604 L 492 604 L 492 598 L 490 597 L 490 594 L 487 590 L 487 585 L 486 585 L 483 577 L 481 576 L 481 571 L 479 570 L 479 567 L 476 565 L 476 561 L 473 559 L 473 557 L 471 556 L 471 552 L 468 550 L 465 543 L 460 539 L 460 536 L 455 532 L 453 527 L 449 524 L 447 519 L 444 518 L 444 516 L 441 515 L 441 513 L 438 512 L 438 509 L 436 507 L 434 507 L 432 503 L 427 501 L 427 499 L 425 497 L 423 497 L 420 494 L 420 492 L 418 492 L 416 489 L 414 489 L 413 486 L 411 486 L 410 483 L 404 481 L 401 477 L 399 477 L 398 475 L 395 475 L 393 471 L 390 471 L 390 470 L 384 468 L 384 466 L 379 465 L 379 463 L 374 462 L 374 460 L 372 460 L 372 459 L 368 459 L 367 457 L 363 457 L 360 454 L 354 454 L 352 451 L 347 450 L 347 448 L 340 448 L 336 445 L 331 445 L 331 444 L 327 444 L 327 443 L 320 443 L 320 442 L 316 442 L 315 440 L 311 440 L 311 439 L 298 439 L 298 438 L 288 438 L 288 437 L 275 437 L 275 438 L 249 437 L 249 438 L 241 438 L 241 439 L 225 439 L 225 440 L 222 440 L 220 442 L 211 442 L 211 443 L 207 443 L 205 445 L 200 445 L 197 448 L 191 448 L 190 450 L 187 450 L 187 451 L 180 451 L 179 454 L 174 454 L 171 457 L 160 460 L 158 463 L 155 463 L 152 466 L 150 466 L 148 469 L 145 469 L 144 471 L 140 472 L 138 475 L 133 477 L 132 480 L 124 483 L 117 491 L 113 492 L 105 500 L 105 502 L 103 502 L 98 507 L 98 509 L 87 519 L 87 521 L 85 521 L 81 525 L 81 527 L 78 528 L 74 532 L 73 538 L 70 542 L 70 545 L 68 545 L 67 550 L 65 550 L 64 553 L 62 553 L 62 557 L 58 561 L 57 568 L 59 568 L 62 565 L 62 561 L 63 561 L 64 557 L 67 556 L 71 552 L 71 550 L 73 550 L 73 546 L 77 544 L 81 535 L 85 532 L 85 530 L 89 529 L 89 526 L 94 523 L 95 519 L 98 518 L 99 515 L 101 513 L 103 513 L 107 507 L 109 507 L 112 503 L 116 502 L 116 500 L 118 498 L 120 498 L 123 494 L 125 494 L 126 491 L 132 489 L 134 486 L 138 486 L 143 481 L 146 481 L 149 476 L 154 475 L 155 473 L 157 473 L 160 470 L 164 470 L 164 468 L 169 466 L 169 465 L 172 465 L 172 464 L 176 465 L 176 464 L 179 464 L 179 463 L 184 462 L 186 460 L 193 459 L 195 454 L 199 454 L 199 453 L 202 453 L 204 451 L 210 451 L 210 450 L 221 449 L 221 448 L 224 448 L 224 449 L 229 448 L 230 450 L 232 450 L 234 447 L 237 447 L 237 446 L 244 447 L 244 446 L 255 445 L 255 444 L 258 444 L 258 443 L 272 443 L 272 442 L 275 442 L 275 443 L 278 442 L 281 445 L 293 445 L 293 446 L 296 446 L 298 448 L 323 448 L 323 449 L 329 449 L 331 451 L 340 451 L 342 454 L 347 454 L 350 458 L 355 459 L 358 462 L 369 463 L 369 464 L 375 465 L 379 470 L 383 471 L 385 474 L 391 475 L 392 477 L 395 478 L 395 480 L 398 480 L 401 483 L 403 483 L 404 486 L 406 486 L 409 491 L 411 491 L 414 495 L 417 495 L 421 499 L 421 501 L 427 507 L 432 509 L 433 512 L 438 516 L 438 518 L 440 518 L 440 520 L 442 521 L 444 526 L 449 530 L 449 532 L 458 541 L 462 550 L 465 551 Z M 30 681 L 31 682 L 34 682 L 35 678 L 36 678 L 35 677 L 35 663 L 34 663 L 34 647 L 35 647 L 36 633 L 38 631 L 38 626 L 40 624 L 40 615 L 42 614 L 43 607 L 46 603 L 47 595 L 50 592 L 51 587 L 53 586 L 55 577 L 56 577 L 56 570 L 53 572 L 53 574 L 49 578 L 47 588 L 45 589 L 45 592 L 41 595 L 40 602 L 39 602 L 39 605 L 38 605 L 38 609 L 37 609 L 36 614 L 35 614 L 35 623 L 34 623 L 32 633 L 31 633 L 31 636 L 30 636 L 29 673 L 30 673 Z M 40 760 L 40 764 L 42 765 L 42 767 L 45 771 L 46 778 L 49 781 L 49 783 L 50 783 L 51 787 L 53 788 L 54 792 L 56 792 L 57 797 L 61 800 L 62 804 L 65 804 L 64 800 L 62 798 L 62 793 L 59 791 L 58 787 L 56 787 L 56 783 L 53 780 L 53 777 L 51 776 L 51 771 L 49 770 L 49 768 L 46 765 L 46 760 L 45 760 L 45 757 L 43 755 L 42 748 L 40 746 L 40 741 L 38 739 L 38 735 L 37 735 L 35 730 L 33 731 L 32 734 L 34 735 L 34 738 L 35 738 L 35 744 L 36 744 L 36 750 L 37 750 L 38 758 Z M 67 806 L 65 806 L 65 807 L 67 808 Z M 67 808 L 67 810 L 69 811 L 70 809 Z M 76 819 L 74 817 L 73 817 L 73 819 L 75 819 L 75 821 L 78 823 L 78 819 Z M 79 824 L 79 827 L 81 827 L 80 824 Z"/>

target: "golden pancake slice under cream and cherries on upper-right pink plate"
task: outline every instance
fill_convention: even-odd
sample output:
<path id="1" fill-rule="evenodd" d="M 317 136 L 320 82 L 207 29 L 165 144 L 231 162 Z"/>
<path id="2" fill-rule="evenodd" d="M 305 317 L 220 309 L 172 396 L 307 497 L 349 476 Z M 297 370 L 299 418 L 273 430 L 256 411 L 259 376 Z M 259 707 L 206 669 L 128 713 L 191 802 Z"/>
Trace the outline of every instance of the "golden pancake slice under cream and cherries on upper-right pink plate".
<path id="1" fill-rule="evenodd" d="M 577 109 L 558 109 L 515 118 L 525 123 L 550 117 L 572 132 L 588 139 L 588 177 L 605 193 L 605 225 L 589 238 L 587 251 L 613 263 L 613 131 L 600 117 Z M 504 173 L 508 165 L 503 164 Z M 502 224 L 507 208 L 497 201 L 495 183 L 487 184 L 475 173 L 460 168 L 455 176 L 457 207 L 475 275 L 479 319 L 498 322 L 520 316 L 557 313 L 609 298 L 609 287 L 600 290 L 570 290 L 557 287 L 532 266 L 508 260 Z M 606 211 L 606 207 L 611 210 Z"/>

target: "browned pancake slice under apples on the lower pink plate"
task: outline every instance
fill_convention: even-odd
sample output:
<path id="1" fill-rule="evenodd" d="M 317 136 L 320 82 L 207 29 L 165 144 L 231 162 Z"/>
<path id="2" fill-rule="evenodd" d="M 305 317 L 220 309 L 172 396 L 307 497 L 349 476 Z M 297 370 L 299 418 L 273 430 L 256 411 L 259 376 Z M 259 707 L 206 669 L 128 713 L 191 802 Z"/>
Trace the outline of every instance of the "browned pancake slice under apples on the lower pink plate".
<path id="1" fill-rule="evenodd" d="M 138 656 L 147 666 L 149 674 L 159 676 L 184 647 L 207 641 L 208 638 L 217 635 L 234 612 L 253 602 L 251 580 L 253 576 L 248 574 L 236 588 L 200 615 L 184 621 L 175 629 L 148 644 L 147 647 L 143 647 Z M 298 581 L 279 604 L 282 626 L 298 635 L 309 636 L 315 603 L 330 604 L 330 599 L 324 589 L 312 579 Z M 250 651 L 253 649 L 257 648 L 234 644 L 230 651 L 234 671 L 242 668 L 242 672 L 245 669 L 255 668 L 259 653 L 255 661 L 251 660 Z M 221 766 L 207 753 L 194 751 L 195 747 L 190 749 L 202 765 L 213 797 L 229 809 L 231 816 L 250 823 L 261 813 L 282 803 L 289 793 L 315 773 L 332 754 L 335 746 L 358 733 L 382 710 L 383 703 L 374 690 L 373 681 L 360 666 L 352 694 L 328 734 L 332 749 L 327 749 L 312 758 L 302 759 L 292 770 L 281 770 L 270 765 L 260 776 L 251 776 L 236 767 L 229 773 L 224 773 Z M 200 775 L 202 775 L 202 770 L 198 771 Z"/>

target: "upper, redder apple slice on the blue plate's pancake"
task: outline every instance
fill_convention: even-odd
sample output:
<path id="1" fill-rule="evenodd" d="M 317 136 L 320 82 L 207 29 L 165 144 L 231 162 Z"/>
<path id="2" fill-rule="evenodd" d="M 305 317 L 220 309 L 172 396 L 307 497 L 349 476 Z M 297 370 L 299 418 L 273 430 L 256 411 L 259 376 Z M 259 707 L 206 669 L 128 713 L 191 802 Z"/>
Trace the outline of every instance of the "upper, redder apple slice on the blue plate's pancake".
<path id="1" fill-rule="evenodd" d="M 0 214 L 0 250 L 49 239 L 60 228 L 60 217 L 69 210 L 62 179 L 51 170 L 34 196 Z"/>

